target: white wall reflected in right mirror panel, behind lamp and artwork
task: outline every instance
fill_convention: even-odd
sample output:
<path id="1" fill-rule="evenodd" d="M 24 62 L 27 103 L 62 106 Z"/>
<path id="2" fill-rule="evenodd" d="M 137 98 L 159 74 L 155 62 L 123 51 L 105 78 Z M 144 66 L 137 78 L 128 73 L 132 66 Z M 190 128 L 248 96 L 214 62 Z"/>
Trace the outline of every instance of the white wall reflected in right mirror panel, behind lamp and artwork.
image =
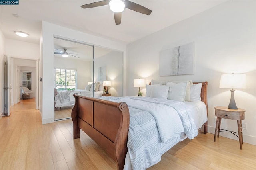
<path id="1" fill-rule="evenodd" d="M 123 96 L 123 53 L 111 51 L 94 59 L 94 81 L 98 82 L 98 68 L 106 67 L 107 80 L 111 81 L 108 93 L 111 96 Z M 100 81 L 103 83 L 103 81 Z"/>

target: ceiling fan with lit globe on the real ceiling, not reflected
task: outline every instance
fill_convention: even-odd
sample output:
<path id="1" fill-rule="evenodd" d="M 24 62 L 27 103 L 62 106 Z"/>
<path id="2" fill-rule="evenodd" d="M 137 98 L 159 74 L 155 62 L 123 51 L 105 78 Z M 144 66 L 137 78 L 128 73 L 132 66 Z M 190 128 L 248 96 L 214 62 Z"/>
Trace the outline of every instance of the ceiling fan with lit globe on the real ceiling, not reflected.
<path id="1" fill-rule="evenodd" d="M 115 19 L 116 25 L 119 25 L 121 23 L 121 16 L 122 16 L 122 11 L 124 11 L 124 8 L 128 8 L 130 10 L 134 10 L 136 12 L 140 12 L 146 15 L 150 15 L 152 12 L 148 8 L 141 6 L 139 4 L 136 4 L 129 0 L 102 0 L 102 1 L 93 2 L 90 4 L 85 4 L 85 5 L 82 5 L 81 7 L 93 8 L 93 7 L 104 6 L 108 4 L 110 7 L 110 10 L 114 12 L 114 19 Z"/>

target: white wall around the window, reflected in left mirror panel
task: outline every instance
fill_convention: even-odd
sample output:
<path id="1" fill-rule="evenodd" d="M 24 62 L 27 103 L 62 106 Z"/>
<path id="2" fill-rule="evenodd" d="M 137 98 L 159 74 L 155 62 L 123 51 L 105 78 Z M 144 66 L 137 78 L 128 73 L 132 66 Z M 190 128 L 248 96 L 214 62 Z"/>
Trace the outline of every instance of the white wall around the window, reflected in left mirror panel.
<path id="1" fill-rule="evenodd" d="M 90 62 L 68 58 L 54 57 L 54 68 L 70 68 L 76 70 L 77 89 L 83 89 L 90 81 Z"/>

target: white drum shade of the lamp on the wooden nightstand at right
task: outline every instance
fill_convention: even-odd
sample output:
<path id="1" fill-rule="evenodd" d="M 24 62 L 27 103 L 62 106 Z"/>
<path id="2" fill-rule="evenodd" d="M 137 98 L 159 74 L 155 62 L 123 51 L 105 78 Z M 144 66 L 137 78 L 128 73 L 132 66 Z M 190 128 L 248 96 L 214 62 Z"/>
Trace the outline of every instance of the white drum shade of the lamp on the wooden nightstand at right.
<path id="1" fill-rule="evenodd" d="M 246 74 L 222 74 L 220 88 L 246 89 Z"/>

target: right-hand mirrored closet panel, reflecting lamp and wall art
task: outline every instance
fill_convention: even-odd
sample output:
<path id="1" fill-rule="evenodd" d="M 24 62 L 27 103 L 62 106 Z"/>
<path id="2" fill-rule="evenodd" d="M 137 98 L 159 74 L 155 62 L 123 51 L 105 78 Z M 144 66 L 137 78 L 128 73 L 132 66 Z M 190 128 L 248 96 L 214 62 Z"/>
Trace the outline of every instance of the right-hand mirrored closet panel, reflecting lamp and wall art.
<path id="1" fill-rule="evenodd" d="M 108 90 L 102 96 L 123 96 L 123 52 L 94 46 L 94 82 Z"/>

